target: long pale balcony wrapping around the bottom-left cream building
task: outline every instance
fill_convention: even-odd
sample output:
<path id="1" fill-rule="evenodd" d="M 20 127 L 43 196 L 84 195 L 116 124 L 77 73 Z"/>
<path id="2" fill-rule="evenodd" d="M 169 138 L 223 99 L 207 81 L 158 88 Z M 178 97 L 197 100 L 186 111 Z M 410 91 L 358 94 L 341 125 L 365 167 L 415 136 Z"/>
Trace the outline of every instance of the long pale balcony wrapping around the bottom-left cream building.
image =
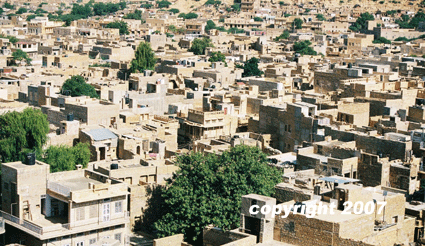
<path id="1" fill-rule="evenodd" d="M 130 212 L 125 212 L 123 217 L 111 219 L 110 221 L 88 221 L 81 226 L 72 226 L 70 223 L 64 224 L 62 223 L 64 220 L 62 217 L 43 217 L 37 221 L 28 221 L 3 211 L 0 211 L 0 216 L 3 217 L 3 220 L 0 220 L 0 234 L 2 233 L 2 228 L 4 232 L 4 222 L 6 222 L 7 224 L 18 228 L 40 240 L 46 240 L 58 236 L 66 236 L 130 222 Z"/>

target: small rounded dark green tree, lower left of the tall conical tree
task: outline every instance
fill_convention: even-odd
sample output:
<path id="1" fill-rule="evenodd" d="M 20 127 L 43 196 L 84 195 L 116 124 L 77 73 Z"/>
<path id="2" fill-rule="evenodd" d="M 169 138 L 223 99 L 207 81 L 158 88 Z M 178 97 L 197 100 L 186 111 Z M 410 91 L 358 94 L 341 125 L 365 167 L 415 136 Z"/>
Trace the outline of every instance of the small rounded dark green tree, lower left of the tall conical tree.
<path id="1" fill-rule="evenodd" d="M 61 94 L 72 97 L 89 96 L 91 98 L 99 98 L 94 87 L 87 84 L 83 76 L 80 75 L 75 75 L 65 80 L 65 83 L 62 85 Z"/>

